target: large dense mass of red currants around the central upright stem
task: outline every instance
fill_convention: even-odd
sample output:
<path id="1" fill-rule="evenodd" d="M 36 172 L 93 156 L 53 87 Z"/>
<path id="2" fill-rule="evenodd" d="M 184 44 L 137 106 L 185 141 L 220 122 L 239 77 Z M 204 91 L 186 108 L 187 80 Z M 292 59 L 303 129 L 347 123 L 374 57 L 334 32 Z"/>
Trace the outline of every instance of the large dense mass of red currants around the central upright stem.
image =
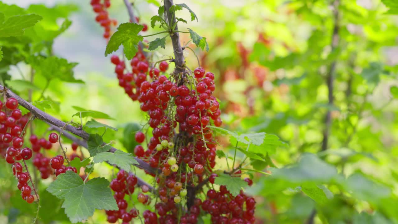
<path id="1" fill-rule="evenodd" d="M 191 200 L 186 198 L 189 187 L 207 178 L 214 183 L 217 176 L 213 173 L 217 143 L 207 127 L 222 124 L 219 102 L 213 96 L 214 74 L 198 67 L 183 78 L 174 74 L 168 78 L 167 61 L 160 62 L 159 68 L 150 68 L 141 52 L 130 62 L 131 72 L 117 55 L 111 57 L 111 62 L 116 65 L 119 86 L 133 101 L 140 102 L 140 109 L 150 118 L 152 137 L 146 147 L 137 145 L 134 153 L 162 171 L 156 175 L 161 202 L 155 205 L 157 214 L 150 211 L 144 214 L 145 223 L 156 223 L 157 215 L 162 217 L 159 223 L 197 223 L 201 209 L 211 214 L 213 223 L 254 223 L 254 198 L 243 192 L 234 197 L 225 186 L 218 192 L 209 190 L 203 203 L 195 198 L 195 203 L 182 216 L 176 207 L 181 200 Z M 139 143 L 144 143 L 145 138 L 142 132 L 135 134 Z M 147 203 L 143 194 L 138 197 L 140 202 Z"/>

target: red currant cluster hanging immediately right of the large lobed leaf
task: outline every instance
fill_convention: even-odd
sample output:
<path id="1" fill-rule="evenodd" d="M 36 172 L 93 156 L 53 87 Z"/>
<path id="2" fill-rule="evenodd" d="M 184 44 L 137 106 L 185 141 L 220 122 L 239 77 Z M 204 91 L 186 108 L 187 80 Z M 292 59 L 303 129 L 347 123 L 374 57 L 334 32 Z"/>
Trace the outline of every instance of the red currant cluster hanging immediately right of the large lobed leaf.
<path id="1" fill-rule="evenodd" d="M 124 199 L 126 195 L 134 193 L 136 184 L 137 177 L 124 170 L 120 170 L 117 173 L 116 178 L 111 181 L 111 189 L 115 192 L 113 197 L 115 198 L 119 209 L 106 211 L 108 222 L 115 223 L 120 218 L 123 220 L 122 224 L 128 224 L 132 218 L 136 218 L 139 215 L 138 210 L 135 208 L 131 208 L 130 211 L 127 212 L 128 203 L 127 200 Z"/>

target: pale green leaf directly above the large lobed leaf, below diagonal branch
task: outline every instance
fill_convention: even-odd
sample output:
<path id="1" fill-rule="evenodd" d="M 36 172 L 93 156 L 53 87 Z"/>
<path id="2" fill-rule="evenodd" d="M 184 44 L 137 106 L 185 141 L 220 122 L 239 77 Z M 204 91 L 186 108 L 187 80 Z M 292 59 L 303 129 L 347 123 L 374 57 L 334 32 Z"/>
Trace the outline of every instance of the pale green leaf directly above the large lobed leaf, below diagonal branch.
<path id="1" fill-rule="evenodd" d="M 121 150 L 116 150 L 115 153 L 103 152 L 98 153 L 93 158 L 94 163 L 101 163 L 103 161 L 108 161 L 112 165 L 118 165 L 120 168 L 127 172 L 131 171 L 131 165 L 139 164 L 137 160 L 131 155 L 131 153 L 125 153 Z"/>

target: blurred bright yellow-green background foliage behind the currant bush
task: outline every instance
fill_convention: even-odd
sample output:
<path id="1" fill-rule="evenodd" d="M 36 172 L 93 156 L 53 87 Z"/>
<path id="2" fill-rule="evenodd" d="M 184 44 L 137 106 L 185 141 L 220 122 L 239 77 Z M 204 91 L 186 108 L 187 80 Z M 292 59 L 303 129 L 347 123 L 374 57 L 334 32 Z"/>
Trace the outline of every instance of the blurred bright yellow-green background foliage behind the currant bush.
<path id="1" fill-rule="evenodd" d="M 54 40 L 53 53 L 78 62 L 75 78 L 85 84 L 51 81 L 46 93 L 59 106 L 46 112 L 62 120 L 70 120 L 76 113 L 72 106 L 109 114 L 115 120 L 101 122 L 119 131 L 107 132 L 105 139 L 117 140 L 115 147 L 132 151 L 134 145 L 122 140 L 123 132 L 131 122 L 144 124 L 145 114 L 118 85 L 110 55 L 104 56 L 107 40 L 102 37 L 103 28 L 94 20 L 89 1 L 2 2 L 23 8 L 68 5 L 66 14 L 72 25 Z M 198 22 L 179 24 L 179 29 L 191 28 L 209 43 L 208 52 L 191 47 L 201 66 L 215 73 L 223 128 L 275 134 L 288 145 L 267 151 L 271 163 L 252 161 L 258 170 L 278 167 L 284 171 L 274 177 L 252 175 L 254 185 L 247 191 L 257 200 L 257 223 L 398 223 L 398 17 L 386 14 L 388 8 L 379 0 L 338 2 L 339 41 L 332 45 L 336 23 L 333 1 L 174 1 L 187 4 L 199 18 Z M 134 1 L 140 23 L 149 27 L 145 35 L 160 31 L 149 26 L 160 4 L 156 0 Z M 187 10 L 178 13 L 190 18 Z M 109 15 L 119 23 L 129 21 L 122 0 L 111 1 Z M 57 18 L 56 24 L 62 24 L 64 18 Z M 181 33 L 182 43 L 189 39 L 189 34 Z M 172 46 L 167 42 L 166 49 L 159 48 L 152 57 L 158 61 L 170 55 Z M 191 51 L 184 55 L 187 65 L 195 69 L 195 55 Z M 333 105 L 329 104 L 327 84 L 332 67 Z M 29 71 L 30 67 L 20 62 L 10 66 L 8 74 L 20 79 L 21 73 Z M 35 84 L 45 86 L 40 81 Z M 33 98 L 39 96 L 40 91 L 33 94 Z M 328 111 L 332 118 L 328 146 L 322 151 Z M 228 140 L 222 140 L 225 144 L 218 149 L 233 153 Z M 217 169 L 225 168 L 224 160 L 219 159 Z M 0 165 L 6 166 L 4 162 Z M 108 167 L 98 166 L 97 175 L 111 175 Z M 9 169 L 1 170 L 0 178 L 5 180 Z M 328 178 L 331 170 L 342 179 Z M 322 204 L 307 196 L 298 186 L 308 182 L 326 186 L 330 201 Z M 0 223 L 29 223 L 33 208 L 21 208 L 17 199 L 9 198 L 18 191 L 16 185 L 4 182 L 0 187 L 6 190 L 0 193 Z M 104 220 L 105 214 L 96 211 L 88 223 Z M 64 219 L 43 222 L 68 223 Z"/>

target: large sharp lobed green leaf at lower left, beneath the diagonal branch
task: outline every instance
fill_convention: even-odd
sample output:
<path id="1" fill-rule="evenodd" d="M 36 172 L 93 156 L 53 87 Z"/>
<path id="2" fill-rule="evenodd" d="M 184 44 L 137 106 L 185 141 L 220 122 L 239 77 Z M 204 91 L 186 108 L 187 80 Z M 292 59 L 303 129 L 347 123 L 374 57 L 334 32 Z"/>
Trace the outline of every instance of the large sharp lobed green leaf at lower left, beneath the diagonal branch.
<path id="1" fill-rule="evenodd" d="M 94 214 L 95 209 L 117 210 L 115 198 L 103 177 L 84 183 L 73 171 L 66 171 L 49 185 L 47 191 L 64 199 L 62 208 L 72 223 L 81 222 Z"/>

